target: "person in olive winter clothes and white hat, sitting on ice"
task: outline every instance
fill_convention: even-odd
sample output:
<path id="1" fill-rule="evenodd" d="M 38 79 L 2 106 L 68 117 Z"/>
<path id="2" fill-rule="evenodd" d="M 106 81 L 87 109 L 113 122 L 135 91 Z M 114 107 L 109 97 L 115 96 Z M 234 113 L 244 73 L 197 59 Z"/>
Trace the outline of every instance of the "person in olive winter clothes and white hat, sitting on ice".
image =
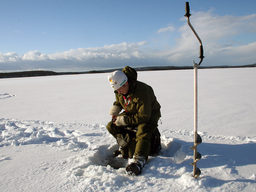
<path id="1" fill-rule="evenodd" d="M 157 129 L 161 106 L 153 89 L 137 81 L 137 72 L 133 68 L 126 66 L 122 71 L 110 73 L 108 81 L 115 90 L 116 101 L 109 110 L 112 121 L 108 123 L 107 129 L 120 146 L 113 154 L 132 159 L 125 172 L 139 175 L 148 156 L 157 155 L 161 150 Z M 125 111 L 119 114 L 123 109 Z"/>

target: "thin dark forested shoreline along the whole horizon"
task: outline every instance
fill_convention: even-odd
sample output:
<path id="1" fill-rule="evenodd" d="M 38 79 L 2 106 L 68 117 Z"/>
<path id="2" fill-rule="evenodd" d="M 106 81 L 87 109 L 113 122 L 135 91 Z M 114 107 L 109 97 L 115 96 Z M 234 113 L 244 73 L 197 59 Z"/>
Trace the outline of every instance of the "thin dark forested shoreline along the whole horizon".
<path id="1" fill-rule="evenodd" d="M 198 69 L 214 69 L 214 68 L 251 68 L 256 67 L 256 63 L 252 65 L 241 65 L 241 66 L 211 66 L 204 67 L 199 66 Z M 95 73 L 111 73 L 118 69 L 108 69 L 108 70 L 98 70 L 98 71 L 85 71 L 85 72 L 54 72 L 54 71 L 22 71 L 22 72 L 10 72 L 10 73 L 0 73 L 0 79 L 3 78 L 17 78 L 17 77 L 36 77 L 36 76 L 52 76 L 52 75 L 77 75 L 77 74 L 95 74 Z M 156 66 L 156 67 L 140 67 L 134 68 L 136 71 L 163 71 L 163 70 L 183 70 L 183 69 L 193 69 L 193 66 Z"/>

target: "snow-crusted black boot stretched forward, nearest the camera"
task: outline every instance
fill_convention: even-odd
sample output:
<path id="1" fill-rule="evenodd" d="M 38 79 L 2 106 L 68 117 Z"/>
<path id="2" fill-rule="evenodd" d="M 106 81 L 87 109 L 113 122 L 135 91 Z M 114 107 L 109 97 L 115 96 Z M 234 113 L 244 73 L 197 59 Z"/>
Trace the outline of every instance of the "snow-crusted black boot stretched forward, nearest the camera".
<path id="1" fill-rule="evenodd" d="M 128 175 L 139 175 L 145 164 L 146 160 L 143 156 L 134 154 L 133 159 L 125 168 L 125 173 Z"/>

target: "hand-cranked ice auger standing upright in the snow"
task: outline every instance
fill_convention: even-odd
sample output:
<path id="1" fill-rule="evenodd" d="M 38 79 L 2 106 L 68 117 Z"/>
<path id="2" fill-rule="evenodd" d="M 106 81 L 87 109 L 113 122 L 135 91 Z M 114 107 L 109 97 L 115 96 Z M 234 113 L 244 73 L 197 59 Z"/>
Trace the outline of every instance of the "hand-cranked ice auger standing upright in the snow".
<path id="1" fill-rule="evenodd" d="M 196 37 L 200 43 L 200 47 L 199 47 L 200 62 L 197 64 L 197 63 L 195 63 L 195 61 L 193 61 L 193 63 L 194 63 L 194 133 L 195 133 L 195 138 L 194 138 L 194 146 L 189 148 L 189 149 L 194 150 L 194 162 L 190 163 L 190 165 L 194 166 L 193 176 L 198 177 L 201 174 L 201 170 L 198 167 L 196 167 L 196 162 L 198 160 L 200 160 L 202 156 L 200 153 L 197 152 L 197 145 L 202 143 L 202 138 L 197 133 L 197 67 L 200 66 L 200 64 L 202 63 L 202 61 L 204 59 L 204 56 L 203 56 L 204 50 L 203 50 L 203 45 L 202 45 L 201 39 L 199 38 L 195 29 L 193 28 L 193 26 L 191 25 L 191 23 L 189 21 L 189 17 L 191 16 L 191 14 L 189 14 L 188 2 L 185 3 L 185 11 L 186 11 L 186 14 L 184 16 L 187 18 L 188 25 L 190 26 L 190 28 L 192 29 L 192 31 L 194 32 L 194 34 L 196 35 Z"/>

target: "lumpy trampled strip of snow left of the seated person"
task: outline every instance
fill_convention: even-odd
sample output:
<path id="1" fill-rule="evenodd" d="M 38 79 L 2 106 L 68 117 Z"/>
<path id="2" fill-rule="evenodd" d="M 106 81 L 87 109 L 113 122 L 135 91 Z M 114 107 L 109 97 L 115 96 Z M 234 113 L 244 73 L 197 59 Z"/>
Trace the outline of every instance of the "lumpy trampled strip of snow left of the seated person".
<path id="1" fill-rule="evenodd" d="M 87 148 L 90 145 L 90 142 L 85 139 L 88 134 L 83 134 L 77 130 L 68 130 L 69 127 L 77 124 L 65 126 L 64 124 L 57 124 L 49 121 L 1 120 L 4 123 L 0 124 L 0 147 L 51 144 L 51 146 L 65 146 L 69 149 L 75 149 L 77 147 Z M 96 124 L 92 126 L 94 128 L 100 127 L 100 125 Z M 65 128 L 61 130 L 63 127 Z M 97 134 L 93 133 L 91 135 L 96 136 Z M 106 135 L 106 133 L 103 135 Z"/>

